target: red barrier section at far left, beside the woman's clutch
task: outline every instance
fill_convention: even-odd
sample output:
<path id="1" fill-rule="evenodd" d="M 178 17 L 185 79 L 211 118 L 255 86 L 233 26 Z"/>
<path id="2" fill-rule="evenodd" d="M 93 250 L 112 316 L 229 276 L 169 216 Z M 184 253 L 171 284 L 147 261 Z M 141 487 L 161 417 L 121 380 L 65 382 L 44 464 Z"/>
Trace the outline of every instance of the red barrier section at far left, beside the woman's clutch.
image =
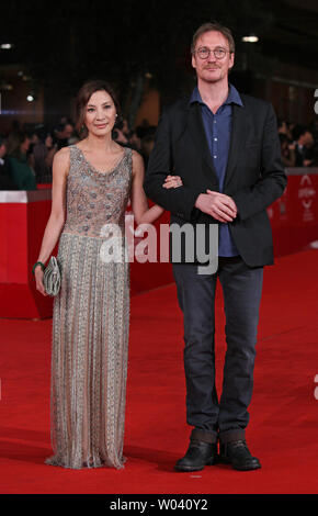
<path id="1" fill-rule="evenodd" d="M 50 190 L 0 192 L 0 317 L 52 315 L 32 274 L 49 213 Z"/>

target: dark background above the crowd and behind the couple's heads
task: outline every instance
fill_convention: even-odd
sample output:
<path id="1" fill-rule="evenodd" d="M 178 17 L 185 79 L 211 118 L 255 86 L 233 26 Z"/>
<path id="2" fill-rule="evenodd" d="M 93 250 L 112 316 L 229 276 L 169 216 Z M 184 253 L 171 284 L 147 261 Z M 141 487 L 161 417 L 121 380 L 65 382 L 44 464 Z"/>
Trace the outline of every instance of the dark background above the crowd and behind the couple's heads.
<path id="1" fill-rule="evenodd" d="M 318 88 L 316 0 L 11 0 L 1 3 L 0 44 L 14 46 L 0 49 L 0 131 L 14 117 L 55 123 L 71 114 L 76 91 L 93 77 L 114 83 L 130 123 L 140 112 L 154 122 L 163 104 L 193 88 L 191 38 L 211 20 L 234 32 L 230 80 L 240 91 L 309 123 Z M 241 41 L 252 33 L 258 43 Z"/>

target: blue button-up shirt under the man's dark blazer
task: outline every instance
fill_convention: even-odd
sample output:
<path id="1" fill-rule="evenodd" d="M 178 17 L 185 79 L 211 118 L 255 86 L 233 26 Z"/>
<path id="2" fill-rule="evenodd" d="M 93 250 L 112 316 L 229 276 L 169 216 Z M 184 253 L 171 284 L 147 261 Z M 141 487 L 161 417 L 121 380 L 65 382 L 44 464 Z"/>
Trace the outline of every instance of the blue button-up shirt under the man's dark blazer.
<path id="1" fill-rule="evenodd" d="M 198 102 L 201 105 L 206 139 L 217 175 L 219 191 L 223 192 L 230 144 L 231 104 L 236 103 L 238 105 L 243 105 L 243 103 L 239 92 L 232 85 L 229 85 L 228 97 L 215 114 L 203 102 L 197 87 L 194 88 L 190 99 L 190 103 L 193 102 Z M 218 256 L 239 255 L 230 235 L 228 224 L 219 223 L 218 228 Z"/>

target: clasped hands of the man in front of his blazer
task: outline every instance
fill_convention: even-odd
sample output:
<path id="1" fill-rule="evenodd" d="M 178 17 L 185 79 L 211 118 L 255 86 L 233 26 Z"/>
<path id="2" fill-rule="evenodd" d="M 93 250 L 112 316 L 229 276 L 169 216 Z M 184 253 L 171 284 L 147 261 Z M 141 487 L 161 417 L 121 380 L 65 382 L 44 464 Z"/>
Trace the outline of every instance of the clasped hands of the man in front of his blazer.
<path id="1" fill-rule="evenodd" d="M 195 207 L 219 222 L 232 222 L 237 216 L 237 206 L 234 200 L 225 193 L 206 191 L 207 193 L 198 195 Z"/>

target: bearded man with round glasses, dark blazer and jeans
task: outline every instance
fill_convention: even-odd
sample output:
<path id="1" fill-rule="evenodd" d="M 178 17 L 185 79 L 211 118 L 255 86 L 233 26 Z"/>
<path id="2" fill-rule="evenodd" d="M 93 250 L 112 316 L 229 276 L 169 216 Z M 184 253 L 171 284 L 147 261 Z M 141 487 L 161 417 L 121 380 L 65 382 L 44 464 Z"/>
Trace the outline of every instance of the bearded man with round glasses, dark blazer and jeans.
<path id="1" fill-rule="evenodd" d="M 273 263 L 266 207 L 284 191 L 276 117 L 272 105 L 240 94 L 228 82 L 235 43 L 217 23 L 193 36 L 197 87 L 162 115 L 144 183 L 147 195 L 171 212 L 171 223 L 194 232 L 218 225 L 216 271 L 202 273 L 183 246 L 173 262 L 184 315 L 186 420 L 193 427 L 178 471 L 197 471 L 217 461 L 237 470 L 261 467 L 246 442 L 252 396 L 263 266 Z M 182 186 L 166 189 L 167 176 Z M 209 232 L 204 242 L 212 246 Z M 182 247 L 182 246 L 181 246 Z M 175 250 L 175 249 L 174 249 Z M 214 302 L 217 278 L 224 292 L 227 352 L 222 396 L 215 388 Z M 220 442 L 218 455 L 217 442 Z"/>

